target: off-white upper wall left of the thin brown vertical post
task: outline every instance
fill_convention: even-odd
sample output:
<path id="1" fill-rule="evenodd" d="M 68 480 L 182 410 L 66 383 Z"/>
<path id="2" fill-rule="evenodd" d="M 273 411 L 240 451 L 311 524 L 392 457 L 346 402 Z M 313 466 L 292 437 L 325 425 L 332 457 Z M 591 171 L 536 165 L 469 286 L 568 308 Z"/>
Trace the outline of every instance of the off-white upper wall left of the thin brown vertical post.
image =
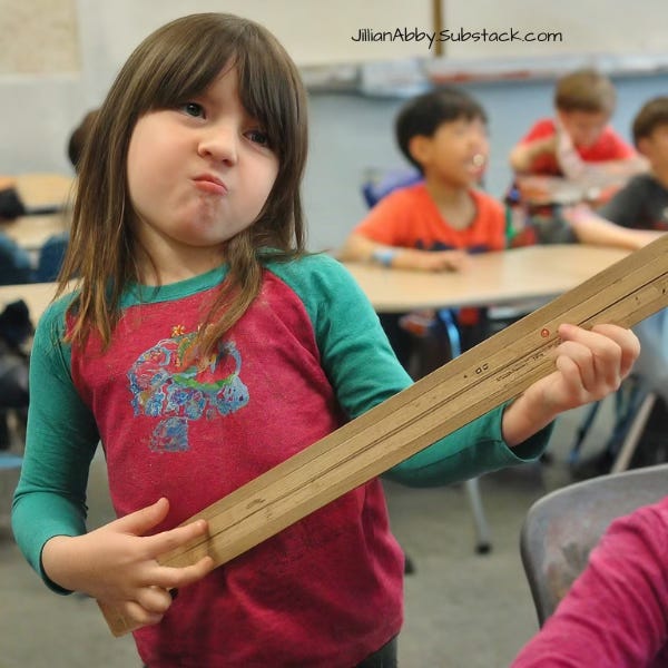
<path id="1" fill-rule="evenodd" d="M 230 11 L 256 19 L 297 63 L 322 65 L 425 55 L 424 46 L 414 42 L 355 43 L 350 38 L 367 26 L 428 24 L 430 7 L 431 0 L 0 0 L 0 174 L 68 169 L 65 144 L 71 128 L 99 105 L 141 39 L 179 16 Z M 63 36 L 52 39 L 55 30 L 68 35 L 68 11 L 70 42 Z M 28 53 L 40 49 L 46 72 L 23 71 L 21 53 L 35 60 Z M 62 69 L 53 71 L 60 61 Z"/>

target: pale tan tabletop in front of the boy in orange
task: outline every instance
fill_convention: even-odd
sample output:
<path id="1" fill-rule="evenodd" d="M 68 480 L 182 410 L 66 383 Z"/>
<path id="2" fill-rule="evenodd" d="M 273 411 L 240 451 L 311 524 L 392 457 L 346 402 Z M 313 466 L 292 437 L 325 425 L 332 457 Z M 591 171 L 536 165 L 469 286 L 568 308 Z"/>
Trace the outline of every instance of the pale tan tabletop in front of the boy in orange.
<path id="1" fill-rule="evenodd" d="M 465 272 L 409 272 L 346 263 L 380 313 L 502 305 L 547 299 L 574 287 L 628 255 L 578 244 L 528 246 L 471 256 Z"/>

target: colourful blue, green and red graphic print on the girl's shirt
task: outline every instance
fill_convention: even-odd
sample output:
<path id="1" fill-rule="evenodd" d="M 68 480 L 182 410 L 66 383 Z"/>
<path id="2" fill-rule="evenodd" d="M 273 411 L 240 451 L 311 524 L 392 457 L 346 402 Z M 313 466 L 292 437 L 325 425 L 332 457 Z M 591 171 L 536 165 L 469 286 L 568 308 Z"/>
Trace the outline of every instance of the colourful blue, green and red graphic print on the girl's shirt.
<path id="1" fill-rule="evenodd" d="M 135 415 L 164 418 L 154 429 L 149 448 L 155 452 L 189 449 L 188 423 L 216 414 L 228 415 L 244 407 L 248 389 L 240 379 L 242 355 L 233 341 L 220 341 L 202 366 L 190 356 L 197 333 L 174 327 L 141 353 L 128 371 Z"/>

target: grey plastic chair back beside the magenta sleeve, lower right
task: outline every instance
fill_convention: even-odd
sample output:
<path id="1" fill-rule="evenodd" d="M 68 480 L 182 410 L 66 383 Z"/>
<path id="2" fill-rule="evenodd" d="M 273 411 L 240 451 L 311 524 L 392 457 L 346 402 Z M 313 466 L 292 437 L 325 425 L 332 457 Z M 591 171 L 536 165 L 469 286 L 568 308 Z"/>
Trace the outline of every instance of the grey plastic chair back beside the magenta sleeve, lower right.
<path id="1" fill-rule="evenodd" d="M 668 492 L 668 464 L 593 478 L 533 503 L 520 554 L 540 626 L 552 615 L 610 523 Z"/>

